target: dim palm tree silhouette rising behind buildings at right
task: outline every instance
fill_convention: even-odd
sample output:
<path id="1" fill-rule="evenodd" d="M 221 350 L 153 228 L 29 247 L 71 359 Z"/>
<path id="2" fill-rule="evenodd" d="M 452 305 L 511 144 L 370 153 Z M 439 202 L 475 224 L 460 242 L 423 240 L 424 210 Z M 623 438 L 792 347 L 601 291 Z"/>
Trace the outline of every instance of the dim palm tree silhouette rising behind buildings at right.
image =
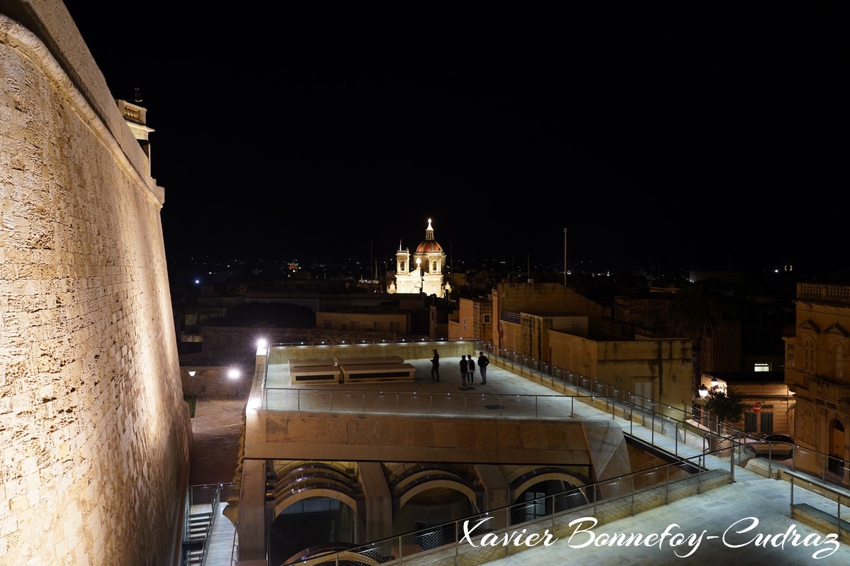
<path id="1" fill-rule="evenodd" d="M 670 327 L 691 340 L 694 375 L 691 394 L 697 395 L 702 375 L 702 341 L 711 338 L 711 331 L 720 320 L 717 288 L 711 281 L 684 283 L 667 311 Z"/>

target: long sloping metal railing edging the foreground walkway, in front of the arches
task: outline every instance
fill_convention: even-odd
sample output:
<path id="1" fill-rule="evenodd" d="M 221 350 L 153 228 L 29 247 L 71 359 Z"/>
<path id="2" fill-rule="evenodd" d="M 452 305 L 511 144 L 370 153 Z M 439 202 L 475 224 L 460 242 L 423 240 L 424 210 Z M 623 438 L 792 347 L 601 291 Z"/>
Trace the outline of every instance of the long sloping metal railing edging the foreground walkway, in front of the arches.
<path id="1" fill-rule="evenodd" d="M 520 552 L 527 543 L 534 546 L 534 541 L 553 541 L 565 530 L 579 528 L 576 521 L 584 528 L 607 524 L 728 483 L 725 464 L 718 469 L 706 468 L 711 456 L 710 452 L 573 487 L 344 551 L 317 553 L 291 564 L 404 563 L 413 558 L 446 566 L 488 563 Z M 716 462 L 721 461 L 718 458 Z"/>

